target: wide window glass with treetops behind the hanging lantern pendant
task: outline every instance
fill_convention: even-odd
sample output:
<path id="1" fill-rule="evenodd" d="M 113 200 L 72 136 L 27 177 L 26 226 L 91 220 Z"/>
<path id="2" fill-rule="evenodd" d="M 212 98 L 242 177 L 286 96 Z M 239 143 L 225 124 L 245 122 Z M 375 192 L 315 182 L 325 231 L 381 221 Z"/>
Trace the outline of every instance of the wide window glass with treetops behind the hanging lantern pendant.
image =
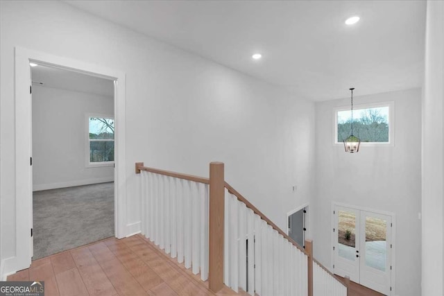
<path id="1" fill-rule="evenodd" d="M 361 143 L 390 143 L 390 105 L 353 109 L 353 134 Z M 336 112 L 337 139 L 341 143 L 350 136 L 352 112 Z"/>

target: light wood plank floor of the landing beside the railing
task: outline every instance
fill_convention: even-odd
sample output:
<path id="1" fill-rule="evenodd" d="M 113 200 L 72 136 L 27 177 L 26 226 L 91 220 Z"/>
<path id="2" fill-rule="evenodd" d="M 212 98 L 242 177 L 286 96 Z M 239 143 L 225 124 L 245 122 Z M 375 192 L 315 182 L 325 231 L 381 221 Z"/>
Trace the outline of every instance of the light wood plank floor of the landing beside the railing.
<path id="1" fill-rule="evenodd" d="M 207 282 L 140 235 L 107 238 L 38 259 L 8 281 L 44 281 L 46 296 L 215 295 Z M 217 295 L 238 294 L 225 287 Z"/>

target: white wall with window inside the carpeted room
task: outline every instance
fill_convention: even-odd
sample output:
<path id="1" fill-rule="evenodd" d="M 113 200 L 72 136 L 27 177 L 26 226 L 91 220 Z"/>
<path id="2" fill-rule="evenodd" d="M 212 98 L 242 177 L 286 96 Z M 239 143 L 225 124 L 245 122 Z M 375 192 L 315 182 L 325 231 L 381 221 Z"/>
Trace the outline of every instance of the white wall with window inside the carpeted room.
<path id="1" fill-rule="evenodd" d="M 112 116 L 114 98 L 33 86 L 34 191 L 110 182 L 114 179 L 112 166 L 85 166 L 87 114 Z"/>

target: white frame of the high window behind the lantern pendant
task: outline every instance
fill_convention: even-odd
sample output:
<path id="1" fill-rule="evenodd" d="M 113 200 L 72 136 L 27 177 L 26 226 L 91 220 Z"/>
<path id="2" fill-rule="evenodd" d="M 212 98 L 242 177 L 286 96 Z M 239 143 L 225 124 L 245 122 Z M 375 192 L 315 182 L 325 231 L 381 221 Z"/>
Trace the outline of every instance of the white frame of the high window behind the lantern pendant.
<path id="1" fill-rule="evenodd" d="M 369 109 L 376 107 L 388 107 L 388 142 L 361 142 L 361 146 L 395 146 L 395 102 L 386 101 L 378 103 L 364 103 L 353 105 L 353 110 Z M 344 143 L 338 141 L 338 112 L 350 110 L 350 105 L 336 107 L 333 110 L 333 144 L 334 146 L 343 146 Z"/>

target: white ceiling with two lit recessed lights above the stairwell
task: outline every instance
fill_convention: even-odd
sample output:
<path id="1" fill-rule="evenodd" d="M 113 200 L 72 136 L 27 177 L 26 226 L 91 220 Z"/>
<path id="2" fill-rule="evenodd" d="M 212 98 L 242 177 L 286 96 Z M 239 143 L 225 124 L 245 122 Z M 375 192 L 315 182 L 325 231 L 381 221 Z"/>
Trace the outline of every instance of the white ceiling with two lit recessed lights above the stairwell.
<path id="1" fill-rule="evenodd" d="M 315 101 L 422 85 L 425 1 L 66 2 Z"/>

